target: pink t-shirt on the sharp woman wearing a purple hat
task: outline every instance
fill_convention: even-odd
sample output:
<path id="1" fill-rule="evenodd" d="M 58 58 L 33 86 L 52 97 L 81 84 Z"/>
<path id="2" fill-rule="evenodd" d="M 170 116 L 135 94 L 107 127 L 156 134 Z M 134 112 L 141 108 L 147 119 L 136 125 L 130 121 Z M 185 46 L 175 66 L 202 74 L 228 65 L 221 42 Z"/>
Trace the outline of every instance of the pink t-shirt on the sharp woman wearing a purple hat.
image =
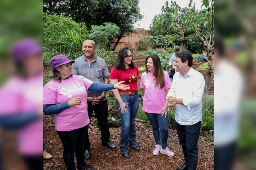
<path id="1" fill-rule="evenodd" d="M 51 80 L 43 87 L 43 104 L 60 104 L 74 97 L 81 97 L 80 105 L 54 115 L 55 129 L 57 131 L 71 131 L 82 128 L 90 123 L 87 111 L 87 90 L 93 81 L 83 76 L 73 75 L 68 79 Z"/>

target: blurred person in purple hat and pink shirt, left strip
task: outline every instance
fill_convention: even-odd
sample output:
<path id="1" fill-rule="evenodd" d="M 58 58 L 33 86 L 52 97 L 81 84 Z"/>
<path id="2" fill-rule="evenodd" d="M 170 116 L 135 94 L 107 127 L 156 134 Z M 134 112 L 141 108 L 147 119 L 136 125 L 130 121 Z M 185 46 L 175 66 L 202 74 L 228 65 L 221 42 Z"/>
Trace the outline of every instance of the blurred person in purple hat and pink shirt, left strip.
<path id="1" fill-rule="evenodd" d="M 15 72 L 2 86 L 2 130 L 18 129 L 17 145 L 27 169 L 42 169 L 42 47 L 32 39 L 13 45 Z"/>

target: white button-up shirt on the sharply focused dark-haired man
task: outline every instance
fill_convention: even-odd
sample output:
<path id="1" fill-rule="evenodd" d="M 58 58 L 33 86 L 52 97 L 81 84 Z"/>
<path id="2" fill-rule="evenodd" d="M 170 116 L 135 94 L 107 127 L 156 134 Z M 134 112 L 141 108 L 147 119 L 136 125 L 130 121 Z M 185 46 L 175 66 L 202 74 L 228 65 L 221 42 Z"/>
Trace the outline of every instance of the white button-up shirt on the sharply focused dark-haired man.
<path id="1" fill-rule="evenodd" d="M 183 99 L 183 104 L 176 104 L 175 120 L 180 125 L 194 125 L 202 121 L 202 98 L 204 77 L 192 67 L 183 77 L 177 72 L 167 96 Z"/>

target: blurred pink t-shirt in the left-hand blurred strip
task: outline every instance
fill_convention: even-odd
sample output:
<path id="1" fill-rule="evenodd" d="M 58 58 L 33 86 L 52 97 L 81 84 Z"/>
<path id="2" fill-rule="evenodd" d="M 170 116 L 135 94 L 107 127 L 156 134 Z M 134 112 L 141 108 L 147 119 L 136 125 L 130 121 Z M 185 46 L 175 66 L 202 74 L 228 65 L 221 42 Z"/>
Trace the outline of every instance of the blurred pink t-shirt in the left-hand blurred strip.
<path id="1" fill-rule="evenodd" d="M 12 77 L 1 87 L 0 114 L 37 114 L 37 119 L 18 129 L 19 153 L 26 156 L 42 155 L 43 118 L 37 113 L 42 107 L 43 74 L 19 78 Z"/>

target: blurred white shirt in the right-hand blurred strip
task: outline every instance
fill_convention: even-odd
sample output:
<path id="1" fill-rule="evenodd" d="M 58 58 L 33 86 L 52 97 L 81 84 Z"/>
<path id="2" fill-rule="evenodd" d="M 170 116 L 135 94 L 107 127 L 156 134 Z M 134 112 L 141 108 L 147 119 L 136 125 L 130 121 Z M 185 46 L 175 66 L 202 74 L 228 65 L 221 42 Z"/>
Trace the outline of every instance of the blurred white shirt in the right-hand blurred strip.
<path id="1" fill-rule="evenodd" d="M 238 139 L 244 80 L 239 69 L 225 60 L 214 70 L 214 145 Z"/>

